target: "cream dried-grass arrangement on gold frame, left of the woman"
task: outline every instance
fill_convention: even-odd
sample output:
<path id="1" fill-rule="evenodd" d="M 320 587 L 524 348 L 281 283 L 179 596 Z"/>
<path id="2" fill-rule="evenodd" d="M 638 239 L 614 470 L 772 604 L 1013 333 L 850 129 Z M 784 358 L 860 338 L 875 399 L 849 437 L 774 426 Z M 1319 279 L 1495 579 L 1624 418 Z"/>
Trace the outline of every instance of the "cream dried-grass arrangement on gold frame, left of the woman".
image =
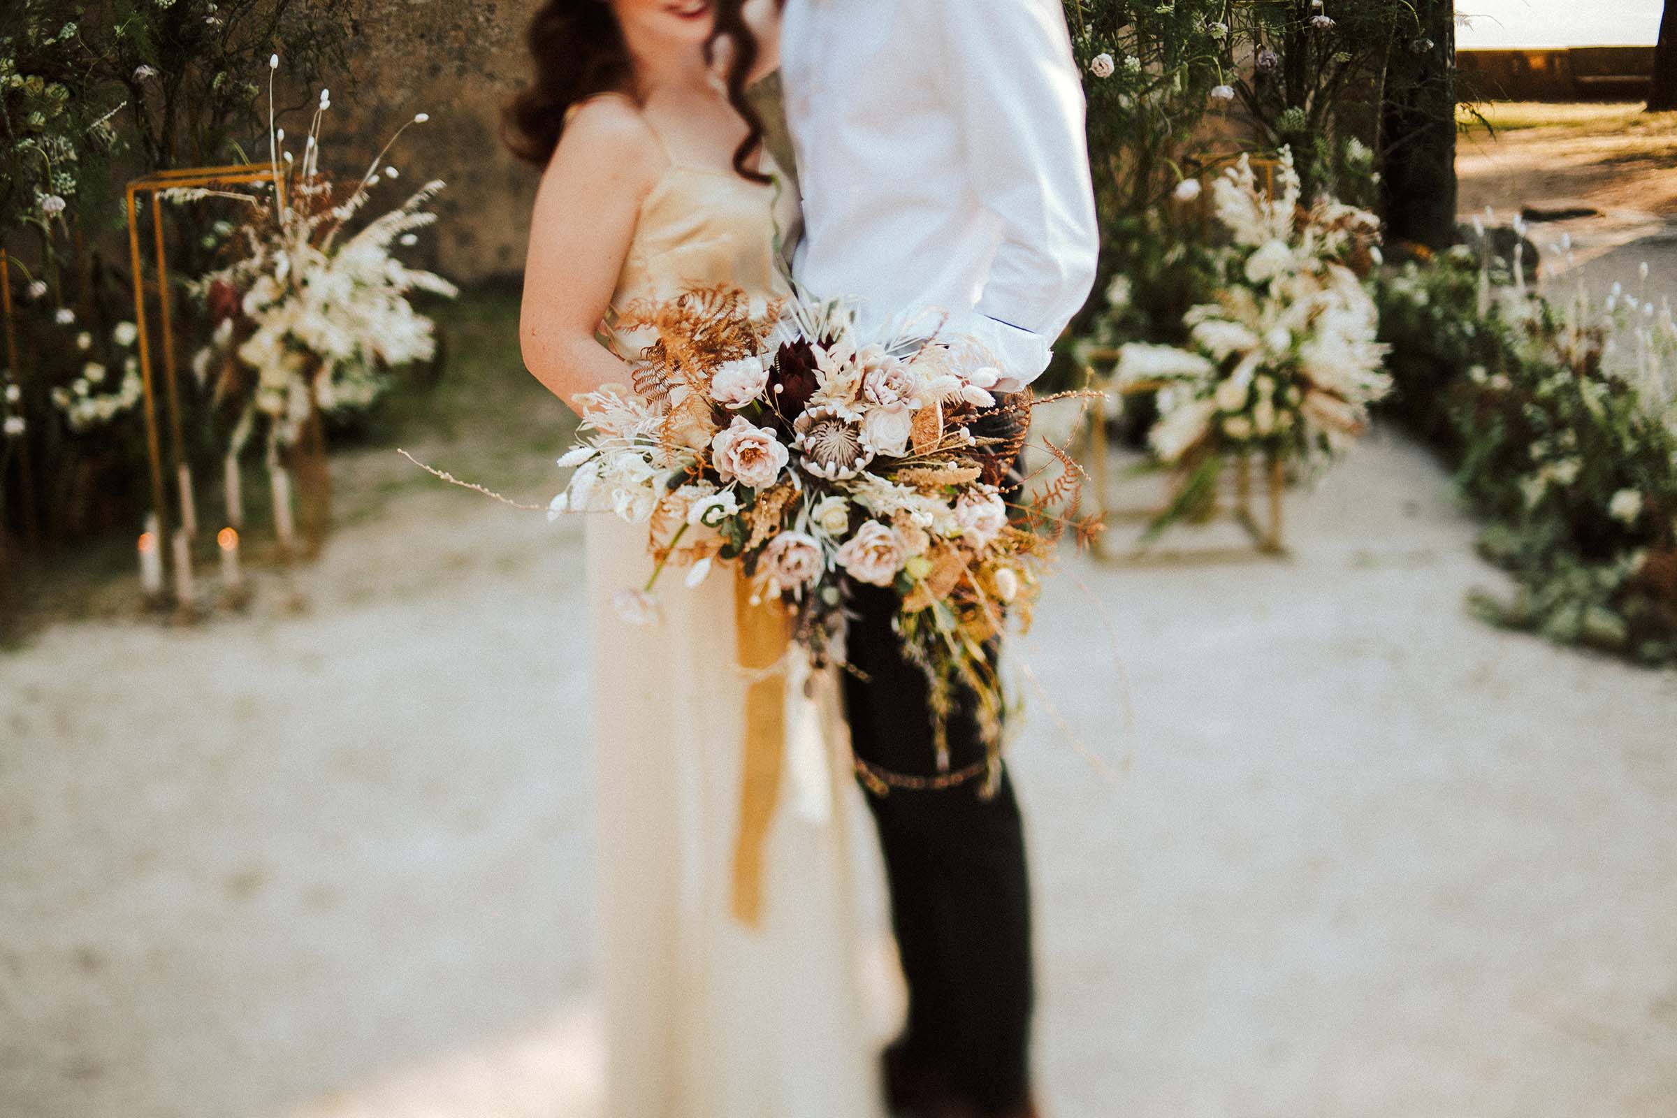
<path id="1" fill-rule="evenodd" d="M 278 59 L 270 59 L 270 85 L 277 65 Z M 356 225 L 374 189 L 401 178 L 386 161 L 391 148 L 428 116 L 419 112 L 402 124 L 344 189 L 320 168 L 320 126 L 330 106 L 330 92 L 320 91 L 300 159 L 285 149 L 285 131 L 273 127 L 270 116 L 270 176 L 260 188 L 168 193 L 178 203 L 231 198 L 247 204 L 245 220 L 226 233 L 225 253 L 233 260 L 191 283 L 215 322 L 193 370 L 211 387 L 216 409 L 230 416 L 230 503 L 236 499 L 240 454 L 257 427 L 265 429 L 275 520 L 287 546 L 287 459 L 305 441 L 314 443 L 314 458 L 324 454 L 322 414 L 366 409 L 389 387 L 396 367 L 433 357 L 434 323 L 414 308 L 413 292 L 458 293 L 443 277 L 411 268 L 397 255 L 418 241 L 418 230 L 436 221 L 424 206 L 443 189 L 441 181 Z"/>

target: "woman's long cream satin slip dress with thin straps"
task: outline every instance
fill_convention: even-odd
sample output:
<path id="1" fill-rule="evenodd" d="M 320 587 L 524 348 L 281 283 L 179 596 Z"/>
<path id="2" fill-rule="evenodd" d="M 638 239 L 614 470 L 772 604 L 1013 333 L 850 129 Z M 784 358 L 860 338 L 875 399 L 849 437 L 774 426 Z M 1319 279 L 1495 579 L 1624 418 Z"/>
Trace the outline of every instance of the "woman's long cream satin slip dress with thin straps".
<path id="1" fill-rule="evenodd" d="M 612 305 L 713 283 L 785 295 L 775 235 L 797 201 L 768 156 L 763 169 L 775 184 L 671 158 Z M 661 620 L 636 627 L 610 600 L 646 583 L 646 548 L 644 526 L 589 516 L 605 1115 L 875 1118 L 847 823 L 859 805 L 835 681 L 807 689 L 793 672 L 783 687 L 785 778 L 746 924 L 733 887 L 751 679 L 736 665 L 735 572 L 688 588 L 666 570 Z"/>

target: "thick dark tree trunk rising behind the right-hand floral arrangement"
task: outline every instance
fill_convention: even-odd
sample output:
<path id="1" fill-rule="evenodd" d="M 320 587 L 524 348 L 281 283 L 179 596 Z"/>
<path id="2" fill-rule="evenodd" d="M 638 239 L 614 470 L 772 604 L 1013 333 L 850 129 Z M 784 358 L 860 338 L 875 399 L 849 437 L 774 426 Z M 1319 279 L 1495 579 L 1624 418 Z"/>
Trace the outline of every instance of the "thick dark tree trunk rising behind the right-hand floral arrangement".
<path id="1" fill-rule="evenodd" d="M 1417 0 L 1420 30 L 1392 45 L 1380 134 L 1387 240 L 1456 240 L 1456 3 Z"/>

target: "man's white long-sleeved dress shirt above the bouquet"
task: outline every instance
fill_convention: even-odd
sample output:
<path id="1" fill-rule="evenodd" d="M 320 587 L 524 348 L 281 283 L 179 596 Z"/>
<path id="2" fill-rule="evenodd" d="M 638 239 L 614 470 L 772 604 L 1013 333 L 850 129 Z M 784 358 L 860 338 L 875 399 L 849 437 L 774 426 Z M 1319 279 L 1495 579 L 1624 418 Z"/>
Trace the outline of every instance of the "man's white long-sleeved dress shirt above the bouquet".
<path id="1" fill-rule="evenodd" d="M 1010 380 L 1041 374 L 1098 251 L 1060 0 L 790 0 L 781 82 L 798 282 L 867 332 L 946 312 Z"/>

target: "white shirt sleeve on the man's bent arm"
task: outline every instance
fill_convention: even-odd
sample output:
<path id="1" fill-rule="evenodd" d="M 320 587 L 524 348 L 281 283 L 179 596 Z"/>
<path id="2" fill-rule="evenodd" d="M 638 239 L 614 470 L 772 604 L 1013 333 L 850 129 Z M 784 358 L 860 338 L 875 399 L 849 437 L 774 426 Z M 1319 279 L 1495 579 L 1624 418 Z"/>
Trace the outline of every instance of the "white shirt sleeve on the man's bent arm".
<path id="1" fill-rule="evenodd" d="M 1083 85 L 1060 0 L 919 0 L 942 34 L 939 82 L 979 203 L 1001 226 L 969 322 L 1010 379 L 1030 382 L 1095 283 L 1100 233 Z"/>

